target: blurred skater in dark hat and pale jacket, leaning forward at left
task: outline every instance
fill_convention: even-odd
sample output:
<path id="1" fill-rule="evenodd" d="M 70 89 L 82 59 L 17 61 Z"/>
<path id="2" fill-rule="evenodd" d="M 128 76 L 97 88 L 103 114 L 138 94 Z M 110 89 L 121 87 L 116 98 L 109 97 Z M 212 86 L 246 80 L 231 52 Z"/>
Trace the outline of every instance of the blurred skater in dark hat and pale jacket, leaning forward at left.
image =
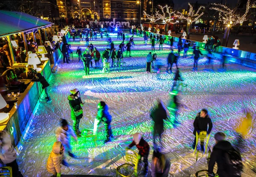
<path id="1" fill-rule="evenodd" d="M 64 146 L 64 151 L 68 153 L 70 157 L 76 157 L 72 153 L 72 146 L 70 144 L 71 136 L 76 140 L 77 142 L 77 136 L 72 129 L 72 127 L 67 123 L 66 119 L 61 119 L 61 126 L 59 126 L 55 131 L 56 139 L 57 141 L 60 141 L 62 145 Z M 66 162 L 64 161 L 64 164 L 66 166 Z"/>

